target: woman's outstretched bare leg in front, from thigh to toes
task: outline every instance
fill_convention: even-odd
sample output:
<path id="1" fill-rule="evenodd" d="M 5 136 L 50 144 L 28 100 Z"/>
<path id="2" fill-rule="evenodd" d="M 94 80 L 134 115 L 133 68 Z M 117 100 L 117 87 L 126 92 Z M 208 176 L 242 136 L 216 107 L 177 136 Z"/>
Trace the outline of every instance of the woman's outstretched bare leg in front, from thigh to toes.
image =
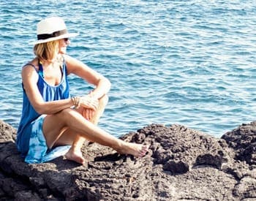
<path id="1" fill-rule="evenodd" d="M 69 108 L 62 110 L 60 113 L 47 115 L 45 117 L 43 132 L 49 148 L 56 143 L 56 139 L 59 139 L 67 128 L 75 131 L 75 133 L 80 133 L 81 136 L 92 142 L 109 146 L 118 151 L 118 153 L 132 154 L 133 156 L 141 157 L 148 151 L 146 145 L 124 142 L 91 122 L 85 121 L 80 113 Z"/>

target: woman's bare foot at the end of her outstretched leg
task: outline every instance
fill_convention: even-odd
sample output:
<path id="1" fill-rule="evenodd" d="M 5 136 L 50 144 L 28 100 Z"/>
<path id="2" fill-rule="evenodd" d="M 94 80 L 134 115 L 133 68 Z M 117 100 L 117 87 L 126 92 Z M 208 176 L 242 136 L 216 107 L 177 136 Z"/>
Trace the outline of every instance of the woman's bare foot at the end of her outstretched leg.
<path id="1" fill-rule="evenodd" d="M 131 154 L 135 157 L 143 157 L 148 152 L 148 145 L 124 142 L 122 148 L 116 151 L 121 154 Z"/>

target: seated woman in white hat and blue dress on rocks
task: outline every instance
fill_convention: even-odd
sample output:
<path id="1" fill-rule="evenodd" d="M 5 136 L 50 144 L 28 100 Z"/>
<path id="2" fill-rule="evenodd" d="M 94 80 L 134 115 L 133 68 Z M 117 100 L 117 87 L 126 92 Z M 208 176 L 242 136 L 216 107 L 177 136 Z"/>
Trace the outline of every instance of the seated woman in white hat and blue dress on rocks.
<path id="1" fill-rule="evenodd" d="M 127 143 L 97 127 L 108 102 L 110 82 L 66 54 L 70 34 L 59 17 L 37 24 L 35 58 L 22 69 L 23 111 L 17 146 L 25 162 L 47 162 L 64 155 L 83 164 L 84 140 L 106 145 L 118 153 L 142 157 L 146 145 Z M 67 75 L 75 74 L 95 86 L 86 96 L 69 95 Z"/>

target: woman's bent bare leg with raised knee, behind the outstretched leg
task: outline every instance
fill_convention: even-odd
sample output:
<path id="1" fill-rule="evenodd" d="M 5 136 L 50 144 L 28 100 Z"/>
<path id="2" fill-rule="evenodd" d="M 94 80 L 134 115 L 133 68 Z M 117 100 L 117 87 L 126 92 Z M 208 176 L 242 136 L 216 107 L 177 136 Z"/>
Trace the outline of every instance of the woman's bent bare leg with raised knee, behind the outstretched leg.
<path id="1" fill-rule="evenodd" d="M 91 119 L 91 123 L 93 123 L 94 125 L 98 124 L 99 118 L 102 116 L 105 110 L 105 106 L 107 104 L 108 96 L 103 96 L 101 99 L 99 99 L 99 107 L 97 108 L 97 111 Z M 83 107 L 80 107 L 78 109 L 78 112 L 83 115 Z M 72 143 L 72 147 L 65 154 L 66 159 L 78 162 L 80 164 L 84 164 L 85 159 L 83 158 L 81 148 L 86 139 L 81 134 L 76 134 L 74 138 L 74 134 L 72 133 L 74 133 L 74 131 L 72 131 L 71 129 L 67 129 L 63 134 L 61 134 L 61 137 L 56 141 L 55 145 L 67 145 L 69 143 Z"/>

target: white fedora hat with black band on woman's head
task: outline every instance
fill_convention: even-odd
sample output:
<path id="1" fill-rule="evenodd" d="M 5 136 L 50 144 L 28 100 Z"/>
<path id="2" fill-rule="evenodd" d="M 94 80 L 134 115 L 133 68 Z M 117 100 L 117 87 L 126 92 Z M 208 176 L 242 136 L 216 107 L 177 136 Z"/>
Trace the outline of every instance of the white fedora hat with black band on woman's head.
<path id="1" fill-rule="evenodd" d="M 37 23 L 37 41 L 34 45 L 43 42 L 50 42 L 56 39 L 76 37 L 76 33 L 68 33 L 67 26 L 62 18 L 50 17 Z"/>

